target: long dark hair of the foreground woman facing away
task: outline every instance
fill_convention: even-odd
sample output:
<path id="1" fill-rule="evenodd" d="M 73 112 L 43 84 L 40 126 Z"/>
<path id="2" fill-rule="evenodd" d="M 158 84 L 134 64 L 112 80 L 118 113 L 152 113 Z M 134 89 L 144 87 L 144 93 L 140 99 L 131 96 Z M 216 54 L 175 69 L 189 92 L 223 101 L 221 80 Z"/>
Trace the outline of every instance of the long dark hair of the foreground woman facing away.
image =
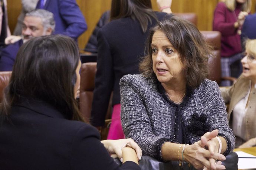
<path id="1" fill-rule="evenodd" d="M 74 98 L 79 50 L 72 38 L 63 35 L 36 37 L 20 48 L 10 83 L 4 90 L 1 112 L 22 100 L 49 103 L 67 119 L 82 120 Z"/>

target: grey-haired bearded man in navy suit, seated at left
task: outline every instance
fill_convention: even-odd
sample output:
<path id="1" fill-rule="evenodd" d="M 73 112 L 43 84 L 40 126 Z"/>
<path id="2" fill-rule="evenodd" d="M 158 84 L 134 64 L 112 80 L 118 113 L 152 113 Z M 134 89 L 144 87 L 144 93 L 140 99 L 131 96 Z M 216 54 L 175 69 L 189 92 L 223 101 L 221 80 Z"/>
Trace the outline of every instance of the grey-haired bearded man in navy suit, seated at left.
<path id="1" fill-rule="evenodd" d="M 50 35 L 55 29 L 53 14 L 37 9 L 26 14 L 23 21 L 22 39 L 3 48 L 0 58 L 0 71 L 12 71 L 20 46 L 33 37 Z"/>

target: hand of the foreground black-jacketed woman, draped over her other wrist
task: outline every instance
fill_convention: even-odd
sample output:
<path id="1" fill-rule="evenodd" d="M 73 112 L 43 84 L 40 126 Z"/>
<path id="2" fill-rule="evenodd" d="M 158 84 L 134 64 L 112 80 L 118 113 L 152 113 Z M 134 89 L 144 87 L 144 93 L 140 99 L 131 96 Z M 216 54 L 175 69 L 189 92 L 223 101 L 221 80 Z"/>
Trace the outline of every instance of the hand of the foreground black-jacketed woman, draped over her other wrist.
<path id="1" fill-rule="evenodd" d="M 140 146 L 132 139 L 118 139 L 118 140 L 102 140 L 101 143 L 104 145 L 106 150 L 110 154 L 116 154 L 122 162 L 122 148 L 131 147 L 135 150 L 138 160 L 141 159 L 142 151 Z"/>

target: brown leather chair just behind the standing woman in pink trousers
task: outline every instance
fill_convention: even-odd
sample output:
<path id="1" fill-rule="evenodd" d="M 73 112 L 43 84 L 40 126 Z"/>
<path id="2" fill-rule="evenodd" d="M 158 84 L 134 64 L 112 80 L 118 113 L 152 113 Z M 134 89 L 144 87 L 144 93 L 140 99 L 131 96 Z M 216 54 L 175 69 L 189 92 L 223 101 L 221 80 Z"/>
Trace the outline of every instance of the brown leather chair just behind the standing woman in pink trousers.
<path id="1" fill-rule="evenodd" d="M 91 109 L 92 109 L 92 99 L 93 99 L 93 90 L 94 90 L 94 80 L 96 74 L 96 62 L 86 62 L 82 64 L 81 67 L 81 82 L 80 82 L 80 99 L 79 107 L 82 113 L 82 116 L 87 122 L 91 118 Z M 101 129 L 101 140 L 105 140 L 108 135 L 109 125 L 111 123 L 111 114 L 112 114 L 112 95 L 109 100 L 108 111 L 106 114 L 105 125 Z M 100 107 L 100 106 L 99 106 Z"/>

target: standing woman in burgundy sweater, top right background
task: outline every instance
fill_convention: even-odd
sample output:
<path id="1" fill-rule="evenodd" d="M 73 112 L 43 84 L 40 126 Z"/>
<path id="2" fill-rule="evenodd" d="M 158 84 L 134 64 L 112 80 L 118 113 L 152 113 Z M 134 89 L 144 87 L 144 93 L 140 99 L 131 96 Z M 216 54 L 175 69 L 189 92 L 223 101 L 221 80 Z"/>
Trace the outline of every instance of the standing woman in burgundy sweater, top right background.
<path id="1" fill-rule="evenodd" d="M 221 76 L 238 77 L 242 72 L 242 46 L 240 40 L 243 19 L 240 12 L 250 12 L 251 0 L 223 0 L 214 10 L 213 30 L 221 33 Z M 231 70 L 233 65 L 234 70 Z M 232 74 L 231 74 L 232 73 Z M 222 81 L 221 86 L 230 86 L 229 81 Z"/>

